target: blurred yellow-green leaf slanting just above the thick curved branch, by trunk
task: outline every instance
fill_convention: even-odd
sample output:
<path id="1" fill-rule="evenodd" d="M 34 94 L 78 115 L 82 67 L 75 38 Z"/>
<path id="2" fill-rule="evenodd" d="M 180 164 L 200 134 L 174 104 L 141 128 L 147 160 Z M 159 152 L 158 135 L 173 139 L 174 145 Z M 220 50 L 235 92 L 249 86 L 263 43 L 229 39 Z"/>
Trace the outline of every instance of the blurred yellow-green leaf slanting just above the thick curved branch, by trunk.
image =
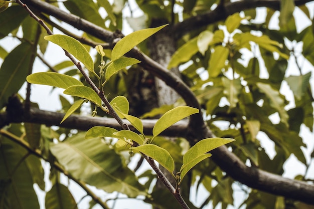
<path id="1" fill-rule="evenodd" d="M 195 37 L 181 46 L 169 61 L 168 69 L 179 66 L 181 63 L 187 62 L 195 55 L 199 49 L 197 47 L 198 37 Z"/>

